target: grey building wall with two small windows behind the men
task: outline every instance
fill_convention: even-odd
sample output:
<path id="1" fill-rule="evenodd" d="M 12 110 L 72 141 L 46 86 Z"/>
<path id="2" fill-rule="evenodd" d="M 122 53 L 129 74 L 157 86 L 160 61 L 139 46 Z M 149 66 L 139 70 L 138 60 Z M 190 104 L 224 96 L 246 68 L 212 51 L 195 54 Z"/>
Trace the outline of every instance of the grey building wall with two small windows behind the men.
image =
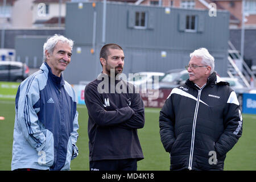
<path id="1" fill-rule="evenodd" d="M 75 40 L 72 63 L 64 73 L 72 84 L 90 81 L 101 72 L 99 60 L 102 42 L 101 2 L 67 3 L 65 35 Z M 147 28 L 136 29 L 135 11 L 148 14 Z M 93 42 L 93 22 L 96 13 L 95 42 Z M 196 15 L 199 23 L 197 32 L 185 31 L 185 16 Z M 123 73 L 139 71 L 166 72 L 170 69 L 184 68 L 190 59 L 189 53 L 205 47 L 215 57 L 216 71 L 227 76 L 227 49 L 229 39 L 229 13 L 218 11 L 210 17 L 206 10 L 171 9 L 165 13 L 164 7 L 134 6 L 108 2 L 106 6 L 105 43 L 117 43 L 125 52 Z M 75 27 L 75 28 L 74 28 Z M 95 45 L 94 53 L 90 49 Z M 81 53 L 77 53 L 77 47 Z M 166 57 L 161 52 L 166 52 Z"/>

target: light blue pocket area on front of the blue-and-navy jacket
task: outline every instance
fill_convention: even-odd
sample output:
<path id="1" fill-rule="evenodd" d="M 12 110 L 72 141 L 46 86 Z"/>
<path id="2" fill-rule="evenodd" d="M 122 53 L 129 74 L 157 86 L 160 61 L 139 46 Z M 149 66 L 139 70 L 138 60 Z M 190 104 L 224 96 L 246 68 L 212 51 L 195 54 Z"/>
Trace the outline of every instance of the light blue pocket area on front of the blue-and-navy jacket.
<path id="1" fill-rule="evenodd" d="M 46 130 L 46 145 L 38 152 L 38 164 L 51 167 L 54 162 L 54 140 L 51 131 Z"/>

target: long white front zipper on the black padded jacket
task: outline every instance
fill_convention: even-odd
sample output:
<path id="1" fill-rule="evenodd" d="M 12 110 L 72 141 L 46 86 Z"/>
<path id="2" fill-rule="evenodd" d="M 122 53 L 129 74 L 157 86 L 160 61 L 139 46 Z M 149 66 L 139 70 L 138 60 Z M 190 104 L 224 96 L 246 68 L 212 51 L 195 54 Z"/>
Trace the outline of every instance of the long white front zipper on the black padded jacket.
<path id="1" fill-rule="evenodd" d="M 196 132 L 196 119 L 197 119 L 197 112 L 198 112 L 198 108 L 199 108 L 199 104 L 200 104 L 201 91 L 204 88 L 204 86 L 198 90 L 198 95 L 197 95 L 196 109 L 195 109 L 195 115 L 194 115 L 193 127 L 192 127 L 191 148 L 190 148 L 189 163 L 188 163 L 189 170 L 192 170 L 193 151 L 194 151 L 195 132 Z"/>

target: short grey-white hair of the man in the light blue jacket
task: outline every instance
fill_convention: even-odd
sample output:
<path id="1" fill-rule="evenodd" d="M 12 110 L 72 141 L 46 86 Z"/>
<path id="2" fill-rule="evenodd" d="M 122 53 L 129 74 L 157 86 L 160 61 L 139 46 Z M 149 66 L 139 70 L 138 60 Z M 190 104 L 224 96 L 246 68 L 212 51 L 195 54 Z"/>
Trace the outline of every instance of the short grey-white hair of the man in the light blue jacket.
<path id="1" fill-rule="evenodd" d="M 49 51 L 50 53 L 52 53 L 53 49 L 55 48 L 55 46 L 58 42 L 67 43 L 71 47 L 71 50 L 73 48 L 73 44 L 74 44 L 73 40 L 65 38 L 63 35 L 55 34 L 55 35 L 51 36 L 50 38 L 48 38 L 48 40 L 44 43 L 44 47 L 43 47 L 44 62 L 46 61 L 46 50 Z"/>

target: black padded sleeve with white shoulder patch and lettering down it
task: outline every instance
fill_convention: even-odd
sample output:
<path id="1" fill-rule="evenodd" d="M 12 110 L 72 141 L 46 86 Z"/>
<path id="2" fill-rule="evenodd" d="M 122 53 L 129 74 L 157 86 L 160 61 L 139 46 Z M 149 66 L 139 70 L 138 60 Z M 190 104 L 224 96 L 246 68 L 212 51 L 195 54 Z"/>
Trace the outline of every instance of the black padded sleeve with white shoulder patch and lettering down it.
<path id="1" fill-rule="evenodd" d="M 233 91 L 226 103 L 224 110 L 224 132 L 215 144 L 217 158 L 226 155 L 242 135 L 242 114 L 237 100 L 236 93 Z"/>

